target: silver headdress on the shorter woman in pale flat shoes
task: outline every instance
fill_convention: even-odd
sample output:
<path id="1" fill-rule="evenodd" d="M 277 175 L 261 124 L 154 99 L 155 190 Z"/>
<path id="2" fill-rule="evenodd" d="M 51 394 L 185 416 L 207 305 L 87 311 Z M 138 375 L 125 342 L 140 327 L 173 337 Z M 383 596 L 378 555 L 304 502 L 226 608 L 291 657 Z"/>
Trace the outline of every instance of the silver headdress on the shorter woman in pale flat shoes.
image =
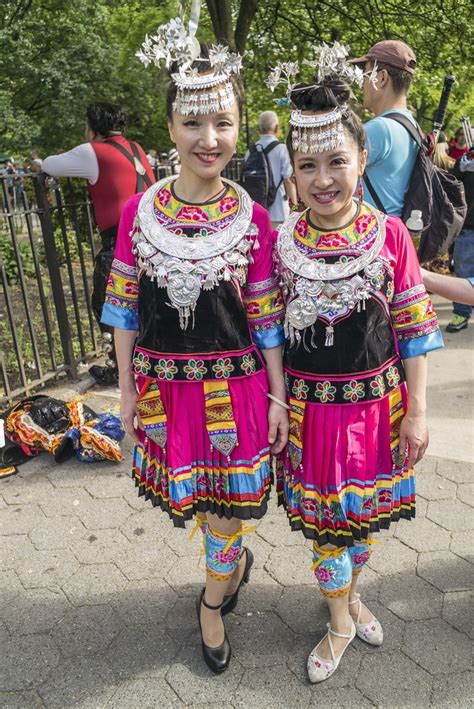
<path id="1" fill-rule="evenodd" d="M 364 73 L 360 67 L 349 64 L 346 58 L 349 55 L 349 47 L 335 42 L 331 47 L 322 44 L 315 48 L 315 52 L 319 54 L 318 59 L 303 60 L 303 64 L 317 70 L 316 83 L 310 86 L 305 85 L 298 89 L 295 81 L 300 71 L 298 62 L 279 63 L 272 69 L 266 81 L 268 88 L 274 91 L 280 84 L 286 85 L 286 98 L 277 99 L 277 103 L 288 105 L 291 103 L 290 96 L 294 91 L 317 88 L 328 78 L 343 79 L 348 84 L 362 86 L 364 78 L 367 77 L 374 86 L 376 85 L 376 66 L 370 72 Z M 293 109 L 290 116 L 290 125 L 293 128 L 291 134 L 293 150 L 302 153 L 323 153 L 342 145 L 344 143 L 342 118 L 346 111 L 346 105 L 336 106 L 325 113 Z"/>

